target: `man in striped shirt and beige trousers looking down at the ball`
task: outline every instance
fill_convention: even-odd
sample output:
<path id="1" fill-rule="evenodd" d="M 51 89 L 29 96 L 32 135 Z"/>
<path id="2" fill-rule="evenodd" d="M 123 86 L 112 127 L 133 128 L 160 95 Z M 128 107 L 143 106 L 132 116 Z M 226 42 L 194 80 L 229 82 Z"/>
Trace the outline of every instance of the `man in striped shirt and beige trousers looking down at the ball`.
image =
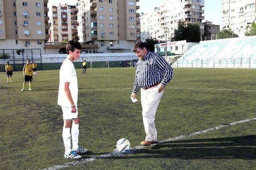
<path id="1" fill-rule="evenodd" d="M 136 73 L 131 97 L 135 99 L 141 88 L 141 105 L 145 141 L 141 145 L 152 145 L 157 143 L 157 131 L 155 127 L 155 115 L 160 99 L 164 93 L 166 83 L 172 79 L 172 67 L 165 59 L 146 49 L 142 42 L 137 42 L 133 52 L 139 58 L 136 64 Z"/>

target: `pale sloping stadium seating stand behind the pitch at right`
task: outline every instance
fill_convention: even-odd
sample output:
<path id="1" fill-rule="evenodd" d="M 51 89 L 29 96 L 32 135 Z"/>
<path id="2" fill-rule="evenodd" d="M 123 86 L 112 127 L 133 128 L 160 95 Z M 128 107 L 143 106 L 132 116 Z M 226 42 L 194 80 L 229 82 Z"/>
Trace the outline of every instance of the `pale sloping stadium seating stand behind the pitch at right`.
<path id="1" fill-rule="evenodd" d="M 256 68 L 256 36 L 200 41 L 174 67 Z"/>

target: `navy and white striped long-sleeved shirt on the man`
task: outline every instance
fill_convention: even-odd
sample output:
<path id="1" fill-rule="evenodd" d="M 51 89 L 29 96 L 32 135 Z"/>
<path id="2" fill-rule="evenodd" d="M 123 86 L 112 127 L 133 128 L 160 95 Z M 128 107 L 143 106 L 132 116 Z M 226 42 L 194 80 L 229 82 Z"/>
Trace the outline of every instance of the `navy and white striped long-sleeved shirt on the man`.
<path id="1" fill-rule="evenodd" d="M 148 88 L 160 82 L 164 86 L 172 79 L 172 67 L 165 59 L 153 52 L 148 51 L 145 57 L 138 60 L 133 86 L 133 93 L 139 88 Z"/>

